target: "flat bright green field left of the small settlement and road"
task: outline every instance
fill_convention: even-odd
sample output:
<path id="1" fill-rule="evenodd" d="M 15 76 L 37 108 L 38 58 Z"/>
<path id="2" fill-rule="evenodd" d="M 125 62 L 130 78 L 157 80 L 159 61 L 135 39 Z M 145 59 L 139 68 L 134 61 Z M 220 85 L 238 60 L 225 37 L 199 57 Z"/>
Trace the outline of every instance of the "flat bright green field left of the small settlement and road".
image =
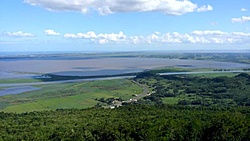
<path id="1" fill-rule="evenodd" d="M 98 99 L 121 98 L 128 100 L 142 88 L 130 80 L 104 80 L 82 83 L 41 85 L 40 90 L 0 97 L 0 111 L 30 112 L 41 110 L 88 108 Z"/>

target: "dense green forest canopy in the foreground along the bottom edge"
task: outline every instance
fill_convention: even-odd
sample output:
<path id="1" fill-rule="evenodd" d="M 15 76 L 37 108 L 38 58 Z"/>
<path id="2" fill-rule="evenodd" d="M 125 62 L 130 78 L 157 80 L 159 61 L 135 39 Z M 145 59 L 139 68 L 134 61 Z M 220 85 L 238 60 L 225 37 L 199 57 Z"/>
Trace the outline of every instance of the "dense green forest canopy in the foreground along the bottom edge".
<path id="1" fill-rule="evenodd" d="M 249 140 L 250 109 L 130 104 L 0 113 L 0 140 Z"/>

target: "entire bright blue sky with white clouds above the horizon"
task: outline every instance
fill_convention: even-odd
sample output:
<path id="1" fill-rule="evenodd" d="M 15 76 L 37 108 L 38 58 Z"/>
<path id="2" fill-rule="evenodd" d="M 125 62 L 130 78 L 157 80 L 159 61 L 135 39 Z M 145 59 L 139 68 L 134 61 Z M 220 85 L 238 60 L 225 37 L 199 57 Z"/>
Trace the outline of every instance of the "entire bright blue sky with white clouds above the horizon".
<path id="1" fill-rule="evenodd" d="M 250 50 L 250 0 L 0 0 L 0 52 Z"/>

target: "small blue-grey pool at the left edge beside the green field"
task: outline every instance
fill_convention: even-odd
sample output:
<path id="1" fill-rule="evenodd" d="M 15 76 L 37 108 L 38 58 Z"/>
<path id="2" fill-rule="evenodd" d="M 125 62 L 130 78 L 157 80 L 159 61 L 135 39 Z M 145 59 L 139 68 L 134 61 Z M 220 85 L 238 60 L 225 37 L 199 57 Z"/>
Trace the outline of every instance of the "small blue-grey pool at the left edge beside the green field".
<path id="1" fill-rule="evenodd" d="M 35 91 L 39 89 L 40 88 L 33 86 L 18 86 L 18 87 L 5 88 L 3 90 L 0 90 L 0 96 L 10 95 L 10 94 L 21 94 L 24 92 Z"/>

